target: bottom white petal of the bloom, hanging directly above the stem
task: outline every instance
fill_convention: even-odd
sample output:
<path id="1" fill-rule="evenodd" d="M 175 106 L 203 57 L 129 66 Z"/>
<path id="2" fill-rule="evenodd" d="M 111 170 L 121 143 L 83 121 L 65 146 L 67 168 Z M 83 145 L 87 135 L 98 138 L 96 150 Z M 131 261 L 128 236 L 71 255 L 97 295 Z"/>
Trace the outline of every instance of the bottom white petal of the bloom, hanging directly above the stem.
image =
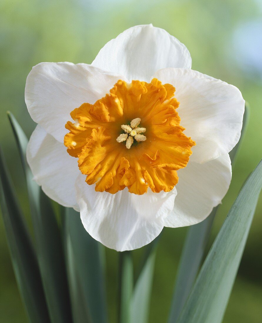
<path id="1" fill-rule="evenodd" d="M 80 175 L 76 181 L 77 201 L 86 231 L 103 245 L 117 251 L 147 245 L 162 231 L 164 218 L 172 211 L 176 190 L 144 195 L 95 192 L 94 185 Z"/>

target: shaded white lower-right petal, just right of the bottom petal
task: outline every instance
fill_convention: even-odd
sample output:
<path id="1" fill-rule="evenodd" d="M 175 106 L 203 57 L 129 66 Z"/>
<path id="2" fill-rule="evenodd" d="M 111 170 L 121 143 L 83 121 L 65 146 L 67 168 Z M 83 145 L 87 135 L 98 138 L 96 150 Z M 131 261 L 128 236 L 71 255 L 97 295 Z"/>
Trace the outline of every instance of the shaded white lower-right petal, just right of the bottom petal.
<path id="1" fill-rule="evenodd" d="M 189 161 L 178 171 L 174 209 L 164 220 L 165 226 L 180 227 L 203 221 L 213 207 L 221 203 L 231 181 L 229 155 L 199 164 Z"/>

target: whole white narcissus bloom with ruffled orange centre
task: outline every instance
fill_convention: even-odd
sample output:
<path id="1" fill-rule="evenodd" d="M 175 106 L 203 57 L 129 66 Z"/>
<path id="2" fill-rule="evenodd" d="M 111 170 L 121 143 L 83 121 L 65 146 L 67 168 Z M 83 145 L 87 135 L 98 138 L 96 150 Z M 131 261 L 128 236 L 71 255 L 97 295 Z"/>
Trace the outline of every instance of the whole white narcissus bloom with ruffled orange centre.
<path id="1" fill-rule="evenodd" d="M 110 248 L 199 223 L 228 190 L 242 95 L 192 70 L 163 29 L 129 28 L 91 65 L 36 65 L 25 100 L 38 123 L 27 148 L 35 180 Z"/>

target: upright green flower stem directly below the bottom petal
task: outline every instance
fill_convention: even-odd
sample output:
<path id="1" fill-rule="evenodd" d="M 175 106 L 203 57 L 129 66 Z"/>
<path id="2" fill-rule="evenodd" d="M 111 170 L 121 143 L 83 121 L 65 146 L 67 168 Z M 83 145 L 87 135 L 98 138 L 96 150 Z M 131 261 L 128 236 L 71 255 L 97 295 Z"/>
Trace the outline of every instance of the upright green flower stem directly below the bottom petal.
<path id="1" fill-rule="evenodd" d="M 130 302 L 133 293 L 133 260 L 130 251 L 119 253 L 118 322 L 131 323 Z"/>

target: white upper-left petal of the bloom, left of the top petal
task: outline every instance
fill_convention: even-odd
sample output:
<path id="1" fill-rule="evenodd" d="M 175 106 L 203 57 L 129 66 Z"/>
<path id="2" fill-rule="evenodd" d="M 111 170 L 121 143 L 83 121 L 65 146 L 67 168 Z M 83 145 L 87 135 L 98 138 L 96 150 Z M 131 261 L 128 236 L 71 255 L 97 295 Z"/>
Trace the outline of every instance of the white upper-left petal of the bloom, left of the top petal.
<path id="1" fill-rule="evenodd" d="M 27 76 L 27 109 L 35 122 L 63 142 L 70 112 L 104 97 L 119 79 L 125 80 L 87 64 L 40 63 Z"/>

